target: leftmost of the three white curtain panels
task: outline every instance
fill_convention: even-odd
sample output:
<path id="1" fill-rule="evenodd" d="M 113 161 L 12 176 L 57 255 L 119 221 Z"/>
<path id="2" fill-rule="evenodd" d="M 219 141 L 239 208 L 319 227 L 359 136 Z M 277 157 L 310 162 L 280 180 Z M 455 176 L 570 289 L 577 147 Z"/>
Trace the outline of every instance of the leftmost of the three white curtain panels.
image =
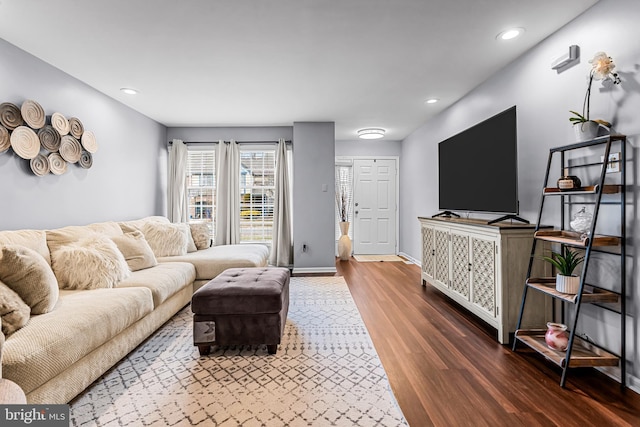
<path id="1" fill-rule="evenodd" d="M 167 212 L 171 222 L 187 222 L 187 144 L 174 139 L 169 147 Z"/>

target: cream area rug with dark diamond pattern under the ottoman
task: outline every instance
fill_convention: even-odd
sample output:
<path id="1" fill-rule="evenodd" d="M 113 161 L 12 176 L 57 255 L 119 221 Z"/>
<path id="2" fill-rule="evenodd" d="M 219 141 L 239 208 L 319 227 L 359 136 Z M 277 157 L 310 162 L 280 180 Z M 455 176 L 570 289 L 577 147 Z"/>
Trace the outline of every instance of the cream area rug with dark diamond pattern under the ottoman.
<path id="1" fill-rule="evenodd" d="M 342 277 L 292 277 L 275 355 L 199 357 L 183 309 L 71 402 L 72 425 L 406 426 Z"/>

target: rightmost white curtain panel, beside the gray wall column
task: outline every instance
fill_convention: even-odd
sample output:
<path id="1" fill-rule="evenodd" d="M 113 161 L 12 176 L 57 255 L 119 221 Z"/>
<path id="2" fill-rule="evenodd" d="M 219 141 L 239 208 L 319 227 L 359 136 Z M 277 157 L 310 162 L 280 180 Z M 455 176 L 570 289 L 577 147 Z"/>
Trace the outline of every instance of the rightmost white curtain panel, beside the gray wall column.
<path id="1" fill-rule="evenodd" d="M 291 190 L 287 146 L 284 139 L 278 142 L 276 151 L 275 198 L 273 207 L 273 241 L 269 263 L 278 267 L 289 267 L 293 253 L 291 230 Z"/>

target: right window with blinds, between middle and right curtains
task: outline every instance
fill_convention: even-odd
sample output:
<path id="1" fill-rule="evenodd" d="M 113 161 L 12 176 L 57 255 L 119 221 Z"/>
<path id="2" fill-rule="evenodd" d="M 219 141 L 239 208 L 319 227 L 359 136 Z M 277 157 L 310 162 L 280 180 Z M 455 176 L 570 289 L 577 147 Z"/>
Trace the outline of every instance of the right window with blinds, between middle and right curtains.
<path id="1" fill-rule="evenodd" d="M 275 148 L 240 148 L 240 242 L 271 245 Z"/>

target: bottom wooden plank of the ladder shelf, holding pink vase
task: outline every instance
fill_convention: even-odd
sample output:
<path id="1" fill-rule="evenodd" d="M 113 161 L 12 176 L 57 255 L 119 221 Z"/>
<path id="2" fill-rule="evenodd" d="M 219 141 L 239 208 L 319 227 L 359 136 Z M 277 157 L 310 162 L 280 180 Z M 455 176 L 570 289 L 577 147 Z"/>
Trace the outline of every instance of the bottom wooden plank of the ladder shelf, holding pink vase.
<path id="1" fill-rule="evenodd" d="M 518 329 L 515 337 L 531 349 L 543 355 L 549 361 L 564 368 L 567 358 L 566 352 L 552 350 L 547 347 L 544 341 L 544 329 Z M 580 368 L 589 366 L 618 366 L 620 358 L 593 344 L 575 337 L 573 340 L 573 350 L 571 351 L 570 368 Z"/>

